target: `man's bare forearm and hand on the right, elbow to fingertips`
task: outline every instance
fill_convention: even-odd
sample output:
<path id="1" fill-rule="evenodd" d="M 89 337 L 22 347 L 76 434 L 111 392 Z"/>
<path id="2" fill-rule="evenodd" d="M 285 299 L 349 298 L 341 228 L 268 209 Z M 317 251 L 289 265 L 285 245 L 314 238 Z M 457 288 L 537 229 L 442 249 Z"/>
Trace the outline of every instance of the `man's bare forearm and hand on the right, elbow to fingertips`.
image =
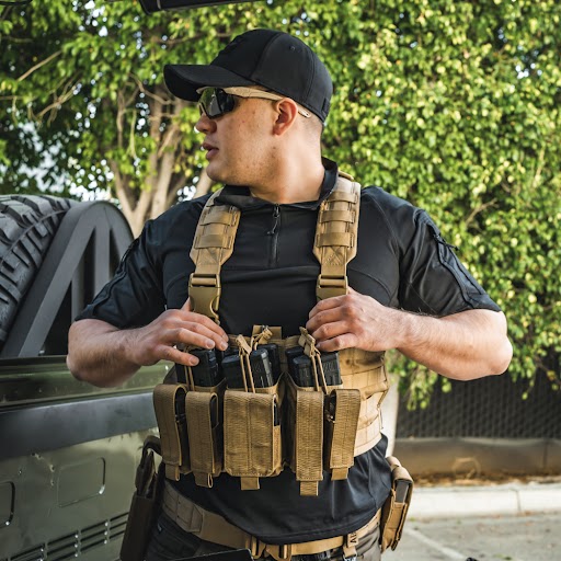
<path id="1" fill-rule="evenodd" d="M 320 351 L 397 348 L 432 370 L 460 380 L 502 374 L 512 358 L 502 312 L 467 310 L 443 318 L 382 306 L 350 289 L 321 300 L 306 324 Z"/>

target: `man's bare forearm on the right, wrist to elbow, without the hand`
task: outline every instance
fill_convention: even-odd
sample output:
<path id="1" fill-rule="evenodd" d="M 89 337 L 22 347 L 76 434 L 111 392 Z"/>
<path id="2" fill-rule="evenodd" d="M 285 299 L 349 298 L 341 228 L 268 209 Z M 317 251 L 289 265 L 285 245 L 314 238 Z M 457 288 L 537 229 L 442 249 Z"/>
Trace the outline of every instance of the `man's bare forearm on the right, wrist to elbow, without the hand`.
<path id="1" fill-rule="evenodd" d="M 397 348 L 448 378 L 502 374 L 512 358 L 502 312 L 468 310 L 444 318 L 402 313 Z"/>

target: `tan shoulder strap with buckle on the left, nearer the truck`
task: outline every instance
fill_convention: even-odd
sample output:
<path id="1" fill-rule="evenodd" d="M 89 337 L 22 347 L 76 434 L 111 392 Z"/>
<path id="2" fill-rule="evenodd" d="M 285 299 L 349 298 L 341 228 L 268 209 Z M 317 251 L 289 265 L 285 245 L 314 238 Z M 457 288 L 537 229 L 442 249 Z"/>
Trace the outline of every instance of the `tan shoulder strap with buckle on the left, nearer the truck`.
<path id="1" fill-rule="evenodd" d="M 190 256 L 195 272 L 188 279 L 188 296 L 193 310 L 219 323 L 220 267 L 233 252 L 236 232 L 240 224 L 240 209 L 216 205 L 217 191 L 206 203 L 198 219 Z"/>

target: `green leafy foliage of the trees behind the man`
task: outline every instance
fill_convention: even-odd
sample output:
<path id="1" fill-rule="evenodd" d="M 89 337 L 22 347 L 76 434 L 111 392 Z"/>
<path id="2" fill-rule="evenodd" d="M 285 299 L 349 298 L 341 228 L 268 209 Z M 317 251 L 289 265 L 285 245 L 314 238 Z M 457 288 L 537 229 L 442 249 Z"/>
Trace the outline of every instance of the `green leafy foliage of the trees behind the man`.
<path id="1" fill-rule="evenodd" d="M 503 307 L 515 346 L 511 374 L 531 379 L 542 368 L 556 386 L 560 19 L 557 0 L 268 0 L 152 16 L 129 1 L 4 10 L 4 188 L 16 186 L 23 164 L 37 165 L 30 140 L 37 135 L 58 151 L 53 184 L 114 190 L 113 161 L 138 197 L 154 173 L 147 156 L 178 122 L 174 172 L 191 184 L 204 163 L 196 110 L 164 115 L 160 137 L 150 130 L 149 102 L 167 96 L 163 65 L 208 62 L 248 28 L 299 34 L 335 82 L 324 153 L 363 184 L 430 211 Z M 426 403 L 435 377 L 399 359 L 394 368 L 409 373 L 413 399 Z"/>

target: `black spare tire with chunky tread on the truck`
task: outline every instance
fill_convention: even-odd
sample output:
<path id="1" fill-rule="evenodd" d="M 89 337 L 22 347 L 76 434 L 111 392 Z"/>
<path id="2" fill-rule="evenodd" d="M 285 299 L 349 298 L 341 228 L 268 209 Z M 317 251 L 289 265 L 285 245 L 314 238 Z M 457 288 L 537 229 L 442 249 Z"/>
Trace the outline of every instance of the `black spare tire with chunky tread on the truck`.
<path id="1" fill-rule="evenodd" d="M 62 217 L 73 203 L 48 195 L 0 196 L 0 348 Z"/>

